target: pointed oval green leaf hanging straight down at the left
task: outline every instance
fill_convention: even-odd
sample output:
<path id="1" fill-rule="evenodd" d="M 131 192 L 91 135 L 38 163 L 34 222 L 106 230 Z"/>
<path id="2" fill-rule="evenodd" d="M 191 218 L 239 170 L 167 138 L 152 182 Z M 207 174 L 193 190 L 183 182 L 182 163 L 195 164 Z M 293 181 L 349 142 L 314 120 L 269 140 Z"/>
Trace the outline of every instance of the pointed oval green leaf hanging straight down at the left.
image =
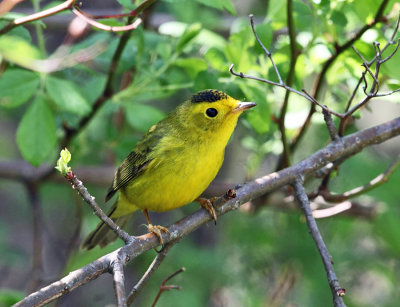
<path id="1" fill-rule="evenodd" d="M 56 122 L 43 95 L 38 95 L 25 112 L 17 130 L 17 144 L 24 159 L 40 165 L 54 149 Z"/>

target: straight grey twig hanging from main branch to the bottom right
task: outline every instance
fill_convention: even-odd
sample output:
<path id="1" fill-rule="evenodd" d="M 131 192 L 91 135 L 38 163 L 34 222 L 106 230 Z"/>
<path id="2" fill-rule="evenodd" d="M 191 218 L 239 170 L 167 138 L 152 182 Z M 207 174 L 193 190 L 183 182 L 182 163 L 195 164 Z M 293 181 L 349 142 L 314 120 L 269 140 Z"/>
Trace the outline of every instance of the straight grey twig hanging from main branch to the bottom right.
<path id="1" fill-rule="evenodd" d="M 321 255 L 322 262 L 324 264 L 324 268 L 328 277 L 329 286 L 331 287 L 331 292 L 333 296 L 333 305 L 335 307 L 345 307 L 346 305 L 344 304 L 342 299 L 342 296 L 344 296 L 345 294 L 345 290 L 339 285 L 339 281 L 333 269 L 332 258 L 318 230 L 317 223 L 315 222 L 312 210 L 310 208 L 310 202 L 308 200 L 306 191 L 304 190 L 304 187 L 302 185 L 302 180 L 298 178 L 297 180 L 294 181 L 292 185 L 295 190 L 296 198 L 301 206 L 301 209 L 304 212 L 308 229 Z"/>

